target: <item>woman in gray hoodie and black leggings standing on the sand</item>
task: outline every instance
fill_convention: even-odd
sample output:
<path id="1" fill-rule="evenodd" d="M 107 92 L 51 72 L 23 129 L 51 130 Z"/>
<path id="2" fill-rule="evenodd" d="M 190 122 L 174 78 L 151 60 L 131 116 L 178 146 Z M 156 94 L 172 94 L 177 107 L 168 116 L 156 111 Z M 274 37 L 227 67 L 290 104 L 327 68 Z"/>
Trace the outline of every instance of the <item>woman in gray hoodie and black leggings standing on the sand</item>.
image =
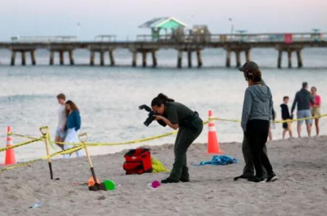
<path id="1" fill-rule="evenodd" d="M 272 119 L 272 96 L 268 86 L 262 86 L 261 71 L 254 69 L 247 71 L 245 79 L 249 87 L 245 91 L 241 126 L 249 141 L 255 176 L 249 181 L 275 181 L 274 174 L 267 154 L 263 147 L 267 142 L 269 121 Z M 263 176 L 262 166 L 267 170 L 267 179 Z"/>

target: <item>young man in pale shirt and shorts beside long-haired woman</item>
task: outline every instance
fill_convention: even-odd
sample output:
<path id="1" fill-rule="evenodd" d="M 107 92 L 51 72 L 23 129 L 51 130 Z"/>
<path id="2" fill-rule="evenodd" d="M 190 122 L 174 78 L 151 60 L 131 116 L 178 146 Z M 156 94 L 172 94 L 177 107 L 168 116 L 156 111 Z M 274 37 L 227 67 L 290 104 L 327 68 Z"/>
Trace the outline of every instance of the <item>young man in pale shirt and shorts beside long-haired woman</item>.
<path id="1" fill-rule="evenodd" d="M 58 126 L 56 129 L 56 142 L 64 142 L 66 138 L 66 112 L 65 112 L 65 102 L 66 102 L 66 96 L 62 93 L 57 95 L 58 103 L 59 103 L 59 109 L 58 109 Z M 57 144 L 62 150 L 64 150 L 63 145 Z"/>

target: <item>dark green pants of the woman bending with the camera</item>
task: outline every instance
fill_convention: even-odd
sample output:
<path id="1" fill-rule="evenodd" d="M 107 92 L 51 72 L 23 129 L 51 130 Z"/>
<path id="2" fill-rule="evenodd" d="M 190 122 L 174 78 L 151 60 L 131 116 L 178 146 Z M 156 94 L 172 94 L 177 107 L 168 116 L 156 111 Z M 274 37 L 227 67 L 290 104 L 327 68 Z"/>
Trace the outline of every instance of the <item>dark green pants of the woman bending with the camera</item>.
<path id="1" fill-rule="evenodd" d="M 186 163 L 186 151 L 188 151 L 188 148 L 193 141 L 199 137 L 202 129 L 202 124 L 196 131 L 187 127 L 180 127 L 178 129 L 174 146 L 175 161 L 173 169 L 170 172 L 170 179 L 175 181 L 179 181 L 180 179 L 189 179 L 189 168 Z"/>

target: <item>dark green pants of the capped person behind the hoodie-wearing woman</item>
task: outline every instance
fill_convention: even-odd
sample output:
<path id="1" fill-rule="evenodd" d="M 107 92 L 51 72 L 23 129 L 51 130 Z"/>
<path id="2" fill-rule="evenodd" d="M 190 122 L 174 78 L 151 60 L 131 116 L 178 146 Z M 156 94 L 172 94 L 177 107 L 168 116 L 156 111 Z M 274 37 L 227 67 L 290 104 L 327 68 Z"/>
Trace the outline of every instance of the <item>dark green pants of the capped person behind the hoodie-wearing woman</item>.
<path id="1" fill-rule="evenodd" d="M 263 150 L 264 150 L 265 154 L 267 154 L 266 144 L 264 145 Z M 243 136 L 242 152 L 243 152 L 244 162 L 245 162 L 245 166 L 243 169 L 243 176 L 246 176 L 246 177 L 254 176 L 254 164 L 253 164 L 252 152 L 251 152 L 249 141 L 246 139 L 245 134 Z M 262 171 L 263 171 L 264 176 L 267 176 L 267 171 L 264 167 L 262 167 Z"/>

